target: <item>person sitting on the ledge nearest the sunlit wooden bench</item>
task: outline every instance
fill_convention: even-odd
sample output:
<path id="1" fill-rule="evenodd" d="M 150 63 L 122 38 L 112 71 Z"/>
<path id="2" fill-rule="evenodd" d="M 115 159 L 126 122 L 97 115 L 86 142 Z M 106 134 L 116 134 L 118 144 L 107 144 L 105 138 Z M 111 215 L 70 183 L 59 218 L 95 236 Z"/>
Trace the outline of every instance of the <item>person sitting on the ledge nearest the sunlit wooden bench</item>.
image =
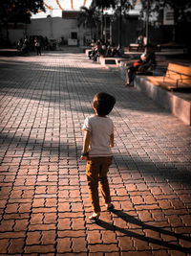
<path id="1" fill-rule="evenodd" d="M 138 61 L 133 63 L 133 66 L 127 69 L 126 86 L 131 85 L 134 81 L 137 72 L 145 72 L 156 62 L 156 55 L 153 50 L 153 45 L 148 43 L 145 45 L 145 52 L 140 56 Z"/>

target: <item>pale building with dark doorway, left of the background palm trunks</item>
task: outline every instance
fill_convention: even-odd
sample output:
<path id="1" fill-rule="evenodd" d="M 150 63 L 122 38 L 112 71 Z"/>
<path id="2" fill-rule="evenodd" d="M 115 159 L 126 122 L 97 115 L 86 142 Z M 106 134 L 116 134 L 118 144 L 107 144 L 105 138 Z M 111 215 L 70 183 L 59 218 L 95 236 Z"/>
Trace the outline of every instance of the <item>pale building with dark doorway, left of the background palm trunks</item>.
<path id="1" fill-rule="evenodd" d="M 68 45 L 83 45 L 90 37 L 90 29 L 77 26 L 78 11 L 63 12 L 62 17 L 52 17 L 32 19 L 31 24 L 17 24 L 16 28 L 10 26 L 11 43 L 18 41 L 26 35 L 41 35 L 48 39 L 64 38 Z"/>

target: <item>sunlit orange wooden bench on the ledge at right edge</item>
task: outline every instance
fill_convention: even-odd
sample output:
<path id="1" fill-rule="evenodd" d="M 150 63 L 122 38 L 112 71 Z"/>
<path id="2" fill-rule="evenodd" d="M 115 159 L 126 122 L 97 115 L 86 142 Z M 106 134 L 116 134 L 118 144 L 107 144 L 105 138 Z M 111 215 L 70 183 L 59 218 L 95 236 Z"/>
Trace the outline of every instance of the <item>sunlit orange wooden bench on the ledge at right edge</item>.
<path id="1" fill-rule="evenodd" d="M 169 63 L 163 77 L 148 79 L 169 91 L 191 90 L 191 66 Z"/>

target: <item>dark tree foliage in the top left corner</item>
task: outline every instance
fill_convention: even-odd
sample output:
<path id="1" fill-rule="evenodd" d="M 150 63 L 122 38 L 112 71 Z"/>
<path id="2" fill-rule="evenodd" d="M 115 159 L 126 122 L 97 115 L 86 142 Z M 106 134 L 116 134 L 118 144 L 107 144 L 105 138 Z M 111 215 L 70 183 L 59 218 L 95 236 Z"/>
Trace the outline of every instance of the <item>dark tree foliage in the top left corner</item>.
<path id="1" fill-rule="evenodd" d="M 31 12 L 45 12 L 43 0 L 1 0 L 0 22 L 29 23 Z"/>

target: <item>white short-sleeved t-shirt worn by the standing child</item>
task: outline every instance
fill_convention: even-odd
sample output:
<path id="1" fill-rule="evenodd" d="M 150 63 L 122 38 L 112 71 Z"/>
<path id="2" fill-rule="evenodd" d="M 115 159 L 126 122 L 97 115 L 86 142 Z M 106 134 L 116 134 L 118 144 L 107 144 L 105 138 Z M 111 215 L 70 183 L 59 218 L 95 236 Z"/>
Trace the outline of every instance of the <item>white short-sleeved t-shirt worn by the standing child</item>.
<path id="1" fill-rule="evenodd" d="M 89 116 L 85 119 L 82 130 L 91 132 L 90 156 L 110 156 L 110 136 L 114 133 L 114 124 L 109 117 Z"/>

